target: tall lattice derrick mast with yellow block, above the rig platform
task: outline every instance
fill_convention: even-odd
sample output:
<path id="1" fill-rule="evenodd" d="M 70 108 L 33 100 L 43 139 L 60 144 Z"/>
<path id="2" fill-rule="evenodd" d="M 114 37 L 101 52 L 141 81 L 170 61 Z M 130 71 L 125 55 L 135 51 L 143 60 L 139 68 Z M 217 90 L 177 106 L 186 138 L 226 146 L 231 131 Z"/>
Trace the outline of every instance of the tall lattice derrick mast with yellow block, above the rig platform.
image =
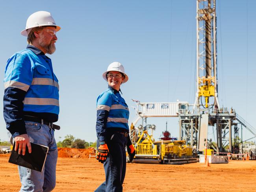
<path id="1" fill-rule="evenodd" d="M 215 0 L 197 0 L 197 93 L 193 111 L 219 109 Z M 210 98 L 214 103 L 210 104 Z M 204 99 L 204 104 L 202 100 Z M 200 104 L 201 100 L 201 104 Z"/>

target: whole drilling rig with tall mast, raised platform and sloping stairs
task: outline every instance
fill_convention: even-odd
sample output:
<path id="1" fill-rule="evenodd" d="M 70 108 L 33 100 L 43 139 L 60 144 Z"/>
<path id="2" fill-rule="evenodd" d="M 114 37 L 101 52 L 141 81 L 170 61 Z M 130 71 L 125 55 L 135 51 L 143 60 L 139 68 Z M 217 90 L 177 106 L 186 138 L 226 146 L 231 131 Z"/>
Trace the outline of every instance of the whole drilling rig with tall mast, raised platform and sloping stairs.
<path id="1" fill-rule="evenodd" d="M 211 146 L 217 153 L 237 152 L 239 127 L 254 136 L 256 129 L 234 109 L 220 107 L 217 79 L 217 17 L 215 0 L 197 0 L 197 73 L 196 97 L 193 109 L 180 111 L 180 140 L 203 151 Z M 208 139 L 208 128 L 216 133 L 215 142 Z M 215 131 L 214 131 L 215 129 Z M 232 144 L 232 132 L 234 144 Z M 232 145 L 236 145 L 233 146 Z"/>

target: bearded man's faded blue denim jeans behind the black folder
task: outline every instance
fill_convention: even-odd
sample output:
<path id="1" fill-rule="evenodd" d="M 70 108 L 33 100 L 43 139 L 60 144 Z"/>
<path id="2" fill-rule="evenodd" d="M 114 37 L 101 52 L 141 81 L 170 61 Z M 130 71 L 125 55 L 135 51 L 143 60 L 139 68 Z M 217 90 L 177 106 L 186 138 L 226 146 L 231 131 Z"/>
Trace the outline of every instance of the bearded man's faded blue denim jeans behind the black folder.
<path id="1" fill-rule="evenodd" d="M 37 122 L 25 121 L 30 142 L 49 147 L 42 172 L 18 166 L 21 188 L 20 192 L 48 192 L 56 185 L 56 163 L 58 158 L 54 129 Z M 33 151 L 32 151 L 33 152 Z M 28 151 L 26 151 L 28 153 Z"/>

